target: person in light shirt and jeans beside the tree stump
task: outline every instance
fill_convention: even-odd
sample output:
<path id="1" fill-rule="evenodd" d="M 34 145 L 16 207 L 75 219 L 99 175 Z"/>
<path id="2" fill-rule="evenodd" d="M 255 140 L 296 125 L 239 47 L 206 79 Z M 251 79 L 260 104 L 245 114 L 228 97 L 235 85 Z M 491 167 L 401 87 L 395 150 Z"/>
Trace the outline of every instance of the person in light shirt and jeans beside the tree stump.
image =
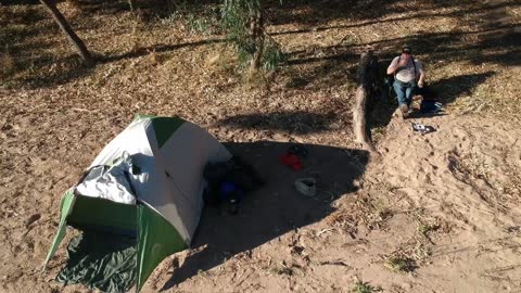
<path id="1" fill-rule="evenodd" d="M 404 46 L 402 54 L 393 59 L 387 67 L 387 74 L 394 74 L 393 88 L 396 92 L 402 115 L 409 115 L 411 97 L 417 88 L 423 88 L 425 73 L 421 62 L 411 55 L 410 47 Z"/>

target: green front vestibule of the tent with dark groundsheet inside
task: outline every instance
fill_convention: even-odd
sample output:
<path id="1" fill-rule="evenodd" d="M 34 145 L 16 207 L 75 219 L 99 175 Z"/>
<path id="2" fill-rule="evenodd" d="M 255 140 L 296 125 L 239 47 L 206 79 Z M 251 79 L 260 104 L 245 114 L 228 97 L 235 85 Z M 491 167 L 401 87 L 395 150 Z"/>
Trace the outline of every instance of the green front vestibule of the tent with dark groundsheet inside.
<path id="1" fill-rule="evenodd" d="M 141 289 L 155 266 L 187 247 L 176 229 L 147 205 L 125 205 L 72 193 L 63 203 L 62 209 L 67 213 L 72 203 L 81 207 L 75 208 L 68 219 L 82 231 L 68 244 L 68 263 L 56 277 L 65 284 L 125 292 L 137 281 Z"/>

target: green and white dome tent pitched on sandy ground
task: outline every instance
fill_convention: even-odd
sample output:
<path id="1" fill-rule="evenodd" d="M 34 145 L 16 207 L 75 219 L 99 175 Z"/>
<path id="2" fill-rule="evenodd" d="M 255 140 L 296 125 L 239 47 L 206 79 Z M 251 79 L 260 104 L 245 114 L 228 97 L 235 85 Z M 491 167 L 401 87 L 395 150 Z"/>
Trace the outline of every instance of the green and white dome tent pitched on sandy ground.
<path id="1" fill-rule="evenodd" d="M 190 245 L 203 207 L 204 166 L 230 157 L 223 144 L 194 124 L 178 117 L 138 116 L 101 151 L 79 183 L 65 193 L 46 265 L 67 226 L 84 234 L 109 232 L 112 240 L 130 237 L 134 257 L 125 258 L 125 264 L 116 257 L 111 260 L 112 270 L 75 269 L 81 273 L 96 270 L 97 278 L 105 282 L 104 291 L 120 291 L 117 285 L 107 286 L 106 280 L 112 278 L 111 282 L 117 283 L 124 275 L 120 269 L 130 268 L 134 276 L 127 277 L 139 291 L 165 257 Z M 85 243 L 89 254 L 91 247 Z M 88 258 L 81 262 L 84 267 L 91 265 Z M 76 281 L 100 289 L 82 278 Z"/>

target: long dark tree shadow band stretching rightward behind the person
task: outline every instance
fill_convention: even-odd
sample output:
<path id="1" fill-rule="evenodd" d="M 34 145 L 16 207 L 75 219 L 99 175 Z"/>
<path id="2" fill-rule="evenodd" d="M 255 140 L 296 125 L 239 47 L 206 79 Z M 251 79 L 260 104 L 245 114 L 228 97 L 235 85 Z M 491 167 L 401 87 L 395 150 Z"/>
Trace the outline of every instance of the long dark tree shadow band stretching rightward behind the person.
<path id="1" fill-rule="evenodd" d="M 423 55 L 422 62 L 468 61 L 481 64 L 490 61 L 499 65 L 520 65 L 521 33 L 516 31 L 516 24 L 498 27 L 483 27 L 471 31 L 422 33 L 406 37 L 381 39 L 365 43 L 339 43 L 329 47 L 308 48 L 303 51 L 289 52 L 289 65 L 302 65 L 323 60 L 353 61 L 361 51 L 373 48 L 381 61 L 391 62 L 398 54 L 404 43 L 414 49 L 414 54 Z M 479 38 L 478 42 L 465 39 Z M 501 52 L 495 50 L 501 49 Z M 320 56 L 317 56 L 319 54 Z"/>

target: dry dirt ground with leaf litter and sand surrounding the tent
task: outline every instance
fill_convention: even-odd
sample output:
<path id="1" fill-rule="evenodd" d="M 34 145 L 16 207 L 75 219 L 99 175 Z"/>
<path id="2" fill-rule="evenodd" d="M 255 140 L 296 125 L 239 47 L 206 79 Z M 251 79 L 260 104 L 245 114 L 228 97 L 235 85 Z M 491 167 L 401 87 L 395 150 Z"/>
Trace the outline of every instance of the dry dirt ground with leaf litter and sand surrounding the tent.
<path id="1" fill-rule="evenodd" d="M 267 182 L 239 215 L 206 208 L 143 292 L 521 292 L 519 1 L 275 2 L 289 61 L 253 82 L 212 15 L 61 2 L 100 60 L 87 69 L 41 5 L 0 5 L 0 291 L 90 292 L 53 281 L 64 244 L 41 264 L 63 192 L 140 113 L 199 124 Z M 404 42 L 445 113 L 404 122 L 381 100 L 369 154 L 351 124 L 358 56 L 385 66 Z M 278 161 L 292 143 L 303 170 Z"/>

